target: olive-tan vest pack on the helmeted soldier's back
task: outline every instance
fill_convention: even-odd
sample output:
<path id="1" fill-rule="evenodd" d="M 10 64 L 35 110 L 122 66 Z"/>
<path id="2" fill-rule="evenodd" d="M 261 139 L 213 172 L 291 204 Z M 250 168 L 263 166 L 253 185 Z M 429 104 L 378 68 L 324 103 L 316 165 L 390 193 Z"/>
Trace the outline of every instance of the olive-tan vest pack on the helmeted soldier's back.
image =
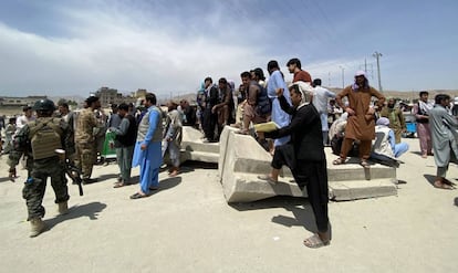
<path id="1" fill-rule="evenodd" d="M 54 157 L 55 149 L 62 149 L 60 122 L 60 118 L 44 118 L 29 123 L 33 159 Z"/>

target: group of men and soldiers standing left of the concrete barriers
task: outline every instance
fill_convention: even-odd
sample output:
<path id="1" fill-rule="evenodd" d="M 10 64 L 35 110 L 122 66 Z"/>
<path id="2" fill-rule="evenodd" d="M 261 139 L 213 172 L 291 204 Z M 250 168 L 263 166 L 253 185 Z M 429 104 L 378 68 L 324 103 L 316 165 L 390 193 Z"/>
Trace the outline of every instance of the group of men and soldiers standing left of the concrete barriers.
<path id="1" fill-rule="evenodd" d="M 181 103 L 186 107 L 186 102 Z M 23 198 L 31 223 L 30 237 L 37 237 L 45 229 L 42 200 L 46 179 L 51 179 L 58 212 L 66 213 L 70 198 L 65 178 L 67 164 L 80 170 L 82 183 L 96 182 L 97 179 L 92 178 L 93 166 L 97 156 L 103 158 L 101 147 L 106 147 L 107 143 L 115 149 L 119 167 L 114 188 L 134 183 L 131 170 L 136 166 L 140 168 L 139 190 L 131 199 L 147 197 L 152 190 L 158 189 L 159 167 L 166 154 L 171 161 L 169 176 L 179 174 L 181 113 L 176 103 L 168 103 L 168 112 L 156 104 L 156 96 L 148 93 L 142 108 L 135 109 L 133 105 L 122 103 L 112 105 L 112 113 L 105 115 L 96 96 L 87 97 L 79 114 L 71 112 L 65 103 L 58 109 L 54 102 L 40 99 L 33 107 L 24 107 L 24 114 L 17 118 L 17 123 L 11 119 L 6 128 L 6 135 L 11 138 L 6 145 L 9 176 L 14 181 L 15 168 L 23 158 L 28 172 Z M 37 115 L 32 114 L 33 111 Z M 114 137 L 105 138 L 108 134 Z"/>

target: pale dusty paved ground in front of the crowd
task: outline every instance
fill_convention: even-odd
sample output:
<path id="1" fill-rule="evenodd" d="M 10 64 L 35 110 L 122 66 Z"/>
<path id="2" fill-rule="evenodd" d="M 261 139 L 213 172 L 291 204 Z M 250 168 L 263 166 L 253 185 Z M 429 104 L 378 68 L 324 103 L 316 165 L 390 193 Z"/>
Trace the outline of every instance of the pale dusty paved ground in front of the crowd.
<path id="1" fill-rule="evenodd" d="M 331 202 L 333 241 L 319 250 L 302 245 L 314 230 L 303 199 L 229 206 L 217 170 L 189 165 L 177 178 L 160 174 L 163 189 L 139 200 L 128 199 L 137 186 L 112 188 L 115 165 L 97 166 L 103 181 L 85 186 L 84 197 L 71 186 L 64 217 L 49 187 L 50 229 L 30 239 L 24 172 L 8 181 L 3 156 L 0 272 L 456 272 L 458 190 L 433 188 L 434 159 L 421 159 L 417 139 L 407 141 L 398 196 Z M 456 166 L 448 178 L 458 178 Z"/>

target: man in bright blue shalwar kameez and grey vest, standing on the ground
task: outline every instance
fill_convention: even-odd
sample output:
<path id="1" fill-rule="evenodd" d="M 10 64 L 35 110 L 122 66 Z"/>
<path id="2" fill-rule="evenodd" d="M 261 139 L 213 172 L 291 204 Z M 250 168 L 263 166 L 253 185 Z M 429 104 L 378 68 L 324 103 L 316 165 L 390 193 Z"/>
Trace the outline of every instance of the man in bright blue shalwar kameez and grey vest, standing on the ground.
<path id="1" fill-rule="evenodd" d="M 132 167 L 140 167 L 140 189 L 131 196 L 131 199 L 148 197 L 150 190 L 157 190 L 159 187 L 159 167 L 163 164 L 162 111 L 156 106 L 156 96 L 153 93 L 146 94 L 145 106 L 148 111 L 138 124 L 137 143 L 132 160 Z"/>

